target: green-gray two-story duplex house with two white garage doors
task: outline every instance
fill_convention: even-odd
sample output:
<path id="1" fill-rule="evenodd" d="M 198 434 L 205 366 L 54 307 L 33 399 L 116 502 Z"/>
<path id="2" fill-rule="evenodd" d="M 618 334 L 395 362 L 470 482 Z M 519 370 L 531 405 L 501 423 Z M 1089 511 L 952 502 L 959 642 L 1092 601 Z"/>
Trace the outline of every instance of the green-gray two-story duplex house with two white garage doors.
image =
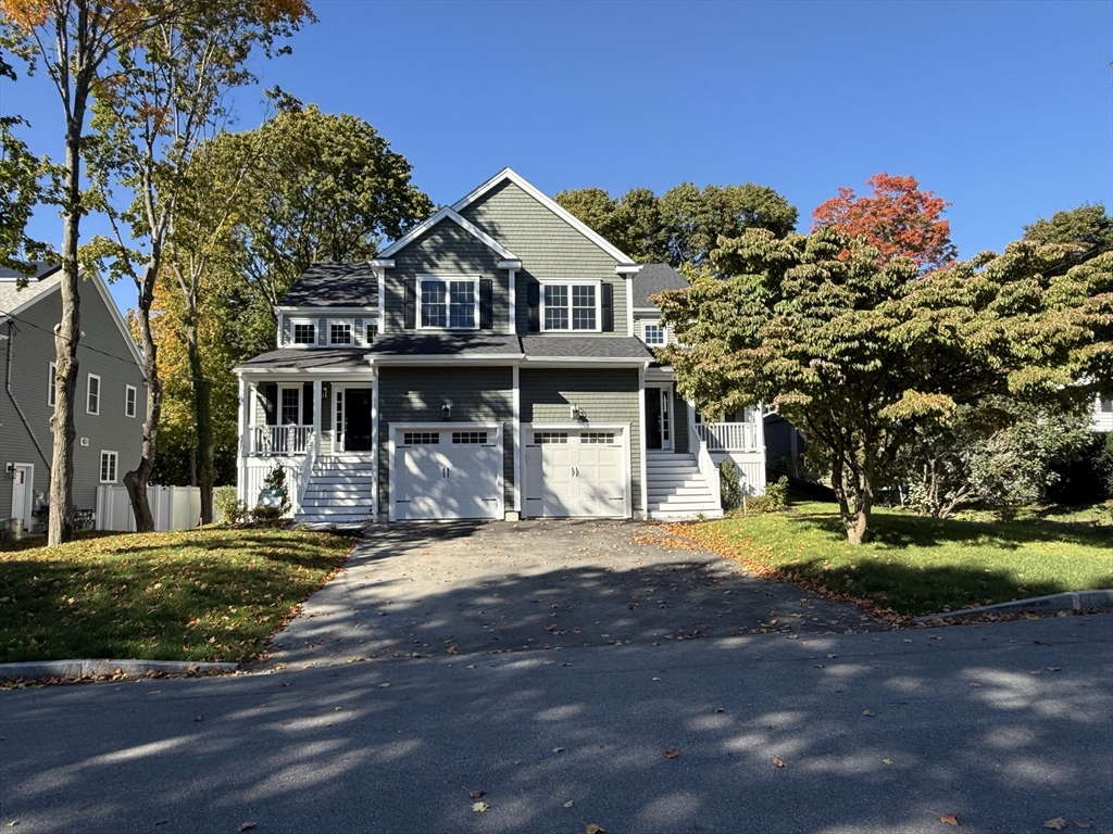
<path id="1" fill-rule="evenodd" d="M 639 338 L 654 275 L 510 169 L 370 262 L 315 265 L 236 368 L 239 497 L 277 464 L 303 520 L 720 514 Z"/>

